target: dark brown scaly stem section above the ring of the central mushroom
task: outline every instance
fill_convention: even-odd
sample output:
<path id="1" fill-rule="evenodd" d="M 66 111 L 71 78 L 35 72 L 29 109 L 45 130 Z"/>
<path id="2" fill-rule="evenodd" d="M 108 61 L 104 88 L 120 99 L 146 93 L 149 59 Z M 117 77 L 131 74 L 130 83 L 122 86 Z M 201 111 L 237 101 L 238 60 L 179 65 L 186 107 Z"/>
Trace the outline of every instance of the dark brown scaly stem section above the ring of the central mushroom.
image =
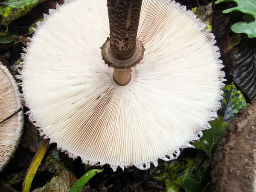
<path id="1" fill-rule="evenodd" d="M 134 51 L 142 0 L 108 0 L 111 50 L 117 57 Z"/>

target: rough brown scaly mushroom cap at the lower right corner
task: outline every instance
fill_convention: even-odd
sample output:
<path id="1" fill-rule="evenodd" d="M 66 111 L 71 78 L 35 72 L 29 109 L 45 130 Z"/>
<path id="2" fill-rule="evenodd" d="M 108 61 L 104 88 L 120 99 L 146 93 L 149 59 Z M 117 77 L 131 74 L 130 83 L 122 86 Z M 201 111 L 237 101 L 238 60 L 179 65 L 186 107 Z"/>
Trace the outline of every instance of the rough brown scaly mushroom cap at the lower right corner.
<path id="1" fill-rule="evenodd" d="M 213 154 L 216 192 L 256 191 L 256 102 L 244 110 L 223 134 Z"/>

